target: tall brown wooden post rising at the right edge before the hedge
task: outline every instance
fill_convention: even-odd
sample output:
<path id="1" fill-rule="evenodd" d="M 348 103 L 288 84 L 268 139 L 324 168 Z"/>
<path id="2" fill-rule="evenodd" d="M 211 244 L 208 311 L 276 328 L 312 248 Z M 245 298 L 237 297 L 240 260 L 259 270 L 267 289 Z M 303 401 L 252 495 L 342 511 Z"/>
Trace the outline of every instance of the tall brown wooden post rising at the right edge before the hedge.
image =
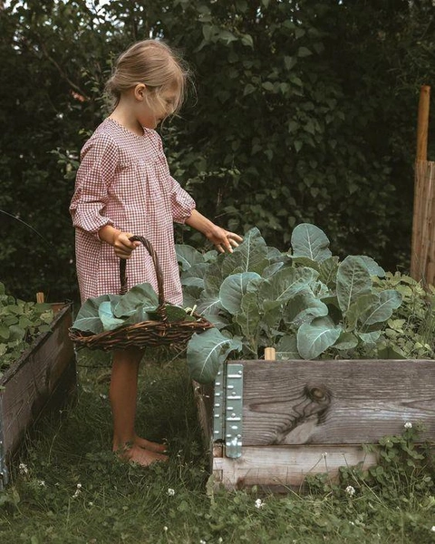
<path id="1" fill-rule="evenodd" d="M 412 217 L 411 238 L 411 277 L 416 281 L 426 277 L 426 261 L 429 248 L 427 236 L 428 222 L 430 221 L 431 190 L 428 184 L 428 132 L 430 110 L 430 86 L 423 85 L 420 89 L 419 114 L 417 121 L 417 152 L 414 176 L 414 204 Z M 430 236 L 432 236 L 430 234 Z"/>

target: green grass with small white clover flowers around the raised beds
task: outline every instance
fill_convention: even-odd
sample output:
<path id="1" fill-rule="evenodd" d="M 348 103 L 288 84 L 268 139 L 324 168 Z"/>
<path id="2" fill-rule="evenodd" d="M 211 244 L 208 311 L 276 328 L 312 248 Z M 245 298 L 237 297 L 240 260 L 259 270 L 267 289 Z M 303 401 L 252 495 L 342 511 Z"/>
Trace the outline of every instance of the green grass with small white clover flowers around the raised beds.
<path id="1" fill-rule="evenodd" d="M 105 355 L 93 356 L 92 364 L 102 365 L 79 367 L 78 402 L 38 423 L 15 460 L 12 483 L 0 492 L 0 542 L 435 542 L 432 467 L 424 460 L 412 464 L 412 455 L 400 464 L 387 456 L 389 463 L 371 478 L 344 471 L 336 486 L 317 479 L 304 495 L 213 491 L 185 363 L 158 358 L 141 366 L 138 430 L 168 441 L 168 465 L 144 469 L 115 461 L 110 365 Z M 81 364 L 88 359 L 82 355 Z"/>

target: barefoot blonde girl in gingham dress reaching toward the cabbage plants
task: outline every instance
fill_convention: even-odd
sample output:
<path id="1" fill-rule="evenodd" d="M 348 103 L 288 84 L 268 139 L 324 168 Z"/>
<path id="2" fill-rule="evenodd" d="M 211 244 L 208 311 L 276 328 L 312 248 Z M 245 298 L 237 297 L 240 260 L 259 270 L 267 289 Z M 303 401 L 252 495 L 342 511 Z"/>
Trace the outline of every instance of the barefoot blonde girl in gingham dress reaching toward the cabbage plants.
<path id="1" fill-rule="evenodd" d="M 195 202 L 169 174 L 159 134 L 160 121 L 179 111 L 187 71 L 166 44 L 145 40 L 119 57 L 107 89 L 114 110 L 97 127 L 81 154 L 71 202 L 76 229 L 76 264 L 82 302 L 119 293 L 119 258 L 129 259 L 128 288 L 150 282 L 155 270 L 146 248 L 129 238 L 148 238 L 162 269 L 165 297 L 183 297 L 174 246 L 173 222 L 202 232 L 220 252 L 241 241 L 195 209 Z M 113 350 L 111 411 L 113 451 L 141 465 L 166 461 L 165 445 L 135 432 L 140 349 Z"/>

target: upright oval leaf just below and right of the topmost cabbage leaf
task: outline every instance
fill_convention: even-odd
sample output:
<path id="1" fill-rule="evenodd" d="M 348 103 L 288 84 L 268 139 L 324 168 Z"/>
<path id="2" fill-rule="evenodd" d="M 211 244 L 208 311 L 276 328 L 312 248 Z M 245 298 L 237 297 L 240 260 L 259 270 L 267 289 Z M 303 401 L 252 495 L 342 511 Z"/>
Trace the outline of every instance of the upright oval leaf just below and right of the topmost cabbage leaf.
<path id="1" fill-rule="evenodd" d="M 345 316 L 358 296 L 372 291 L 372 278 L 361 257 L 346 257 L 337 270 L 337 298 Z"/>

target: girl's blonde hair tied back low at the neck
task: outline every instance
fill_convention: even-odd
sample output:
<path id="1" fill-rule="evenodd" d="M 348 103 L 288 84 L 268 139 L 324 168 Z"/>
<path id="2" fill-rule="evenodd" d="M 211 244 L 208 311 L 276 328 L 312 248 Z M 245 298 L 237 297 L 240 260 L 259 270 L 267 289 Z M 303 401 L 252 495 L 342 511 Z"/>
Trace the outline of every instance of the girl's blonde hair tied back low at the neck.
<path id="1" fill-rule="evenodd" d="M 158 40 L 143 40 L 132 44 L 118 57 L 106 92 L 112 97 L 115 108 L 121 93 L 143 83 L 152 100 L 162 102 L 160 93 L 175 91 L 176 100 L 170 113 L 177 113 L 185 99 L 189 68 L 167 44 Z"/>

